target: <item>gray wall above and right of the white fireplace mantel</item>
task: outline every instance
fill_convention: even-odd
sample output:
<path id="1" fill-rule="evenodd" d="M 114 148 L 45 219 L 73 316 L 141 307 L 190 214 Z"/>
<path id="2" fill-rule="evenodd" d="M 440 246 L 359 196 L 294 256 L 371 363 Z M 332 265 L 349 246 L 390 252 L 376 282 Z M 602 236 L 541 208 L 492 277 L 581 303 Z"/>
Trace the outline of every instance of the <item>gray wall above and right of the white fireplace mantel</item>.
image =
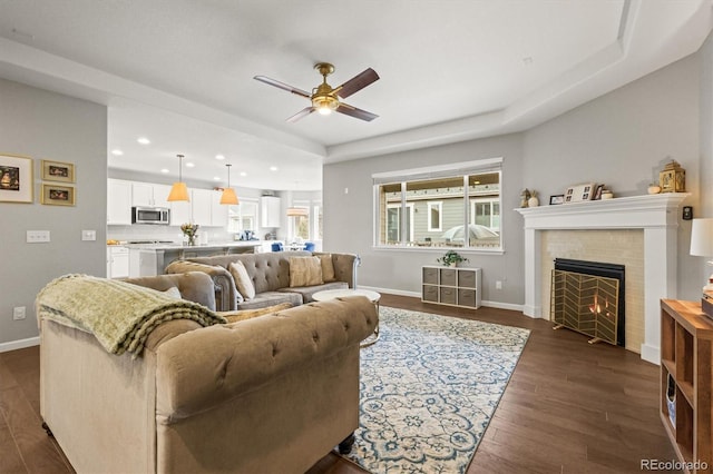
<path id="1" fill-rule="evenodd" d="M 700 216 L 700 55 L 684 58 L 525 132 L 524 185 L 543 200 L 567 185 L 596 181 L 614 196 L 645 195 L 675 159 L 686 170 L 684 205 Z M 678 297 L 700 298 L 688 255 L 691 221 L 678 215 Z"/>

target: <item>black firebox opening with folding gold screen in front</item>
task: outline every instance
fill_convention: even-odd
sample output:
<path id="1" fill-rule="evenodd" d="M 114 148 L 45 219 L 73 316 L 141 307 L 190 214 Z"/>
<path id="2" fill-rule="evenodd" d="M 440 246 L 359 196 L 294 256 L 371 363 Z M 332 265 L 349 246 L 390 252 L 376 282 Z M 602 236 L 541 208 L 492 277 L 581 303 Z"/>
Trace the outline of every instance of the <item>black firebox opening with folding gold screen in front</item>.
<path id="1" fill-rule="evenodd" d="M 550 318 L 557 327 L 625 345 L 624 265 L 555 258 Z"/>

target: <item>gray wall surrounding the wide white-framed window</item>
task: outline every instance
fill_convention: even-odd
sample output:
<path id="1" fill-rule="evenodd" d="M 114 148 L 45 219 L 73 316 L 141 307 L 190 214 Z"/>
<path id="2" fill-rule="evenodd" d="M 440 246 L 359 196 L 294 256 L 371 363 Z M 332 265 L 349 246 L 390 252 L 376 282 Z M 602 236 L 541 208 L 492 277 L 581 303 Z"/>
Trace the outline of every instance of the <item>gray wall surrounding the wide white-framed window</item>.
<path id="1" fill-rule="evenodd" d="M 519 206 L 522 184 L 521 134 L 326 165 L 323 170 L 324 249 L 359 254 L 362 259 L 359 269 L 360 285 L 394 293 L 420 293 L 421 267 L 438 265 L 436 259 L 443 250 L 372 247 L 374 224 L 371 175 L 496 157 L 502 157 L 505 254 L 461 254 L 470 259 L 468 266 L 482 268 L 482 299 L 521 305 L 525 299 L 521 217 L 512 210 Z M 346 194 L 345 188 L 349 188 Z M 504 280 L 501 290 L 495 289 L 496 280 Z"/>

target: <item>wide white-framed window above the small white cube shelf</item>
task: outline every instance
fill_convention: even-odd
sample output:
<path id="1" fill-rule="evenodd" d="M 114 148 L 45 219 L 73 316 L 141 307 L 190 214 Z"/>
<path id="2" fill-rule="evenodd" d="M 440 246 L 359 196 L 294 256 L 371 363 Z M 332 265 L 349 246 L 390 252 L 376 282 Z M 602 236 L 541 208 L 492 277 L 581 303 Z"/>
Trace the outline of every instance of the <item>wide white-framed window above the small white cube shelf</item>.
<path id="1" fill-rule="evenodd" d="M 373 179 L 377 246 L 502 249 L 500 158 Z"/>

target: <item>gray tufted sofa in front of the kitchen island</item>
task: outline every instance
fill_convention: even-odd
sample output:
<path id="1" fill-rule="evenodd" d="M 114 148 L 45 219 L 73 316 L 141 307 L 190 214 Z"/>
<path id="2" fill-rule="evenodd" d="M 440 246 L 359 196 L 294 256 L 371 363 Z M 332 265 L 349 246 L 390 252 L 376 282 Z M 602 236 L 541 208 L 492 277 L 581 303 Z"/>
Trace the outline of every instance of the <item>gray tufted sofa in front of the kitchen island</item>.
<path id="1" fill-rule="evenodd" d="M 311 251 L 274 251 L 265 254 L 232 254 L 196 257 L 172 261 L 167 274 L 204 271 L 215 285 L 215 306 L 219 312 L 255 309 L 290 303 L 299 306 L 313 302 L 312 295 L 323 289 L 356 288 L 359 257 L 353 254 L 329 254 L 334 267 L 334 282 L 315 286 L 290 287 L 290 257 L 328 255 Z M 255 287 L 255 297 L 246 300 L 237 290 L 231 263 L 241 260 Z"/>

